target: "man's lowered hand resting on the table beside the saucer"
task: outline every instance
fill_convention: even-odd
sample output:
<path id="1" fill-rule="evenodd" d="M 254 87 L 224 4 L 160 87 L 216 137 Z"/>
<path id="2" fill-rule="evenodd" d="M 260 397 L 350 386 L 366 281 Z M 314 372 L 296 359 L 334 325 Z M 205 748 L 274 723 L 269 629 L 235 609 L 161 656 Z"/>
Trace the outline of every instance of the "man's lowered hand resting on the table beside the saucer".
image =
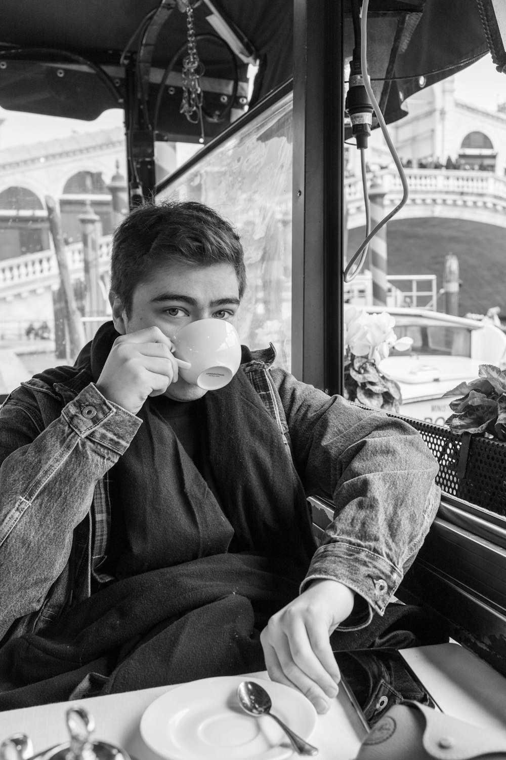
<path id="1" fill-rule="evenodd" d="M 353 606 L 349 587 L 339 581 L 313 581 L 260 634 L 270 678 L 300 689 L 319 713 L 328 710 L 328 698 L 337 695 L 341 679 L 329 636 Z"/>

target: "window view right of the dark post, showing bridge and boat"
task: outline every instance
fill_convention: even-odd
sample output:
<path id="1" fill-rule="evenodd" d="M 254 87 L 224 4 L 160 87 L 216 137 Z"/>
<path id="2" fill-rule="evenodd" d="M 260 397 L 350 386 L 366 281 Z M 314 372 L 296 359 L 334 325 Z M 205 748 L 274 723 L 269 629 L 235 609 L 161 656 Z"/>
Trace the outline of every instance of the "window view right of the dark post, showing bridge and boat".
<path id="1" fill-rule="evenodd" d="M 409 197 L 345 292 L 369 314 L 391 314 L 396 336 L 413 340 L 379 365 L 401 388 L 401 414 L 443 425 L 462 395 L 446 391 L 477 378 L 482 364 L 506 366 L 506 78 L 488 55 L 404 107 L 388 133 Z M 346 157 L 350 261 L 364 239 L 365 204 L 360 151 L 347 145 Z M 366 162 L 373 227 L 402 197 L 380 130 Z"/>

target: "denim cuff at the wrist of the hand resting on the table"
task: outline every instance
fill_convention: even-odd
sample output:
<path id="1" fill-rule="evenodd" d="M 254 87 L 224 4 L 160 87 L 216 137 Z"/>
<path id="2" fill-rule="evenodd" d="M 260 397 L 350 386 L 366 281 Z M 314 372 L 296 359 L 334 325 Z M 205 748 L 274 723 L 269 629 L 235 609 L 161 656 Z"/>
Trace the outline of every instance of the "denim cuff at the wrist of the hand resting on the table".
<path id="1" fill-rule="evenodd" d="M 346 625 L 346 630 L 364 628 L 372 619 L 372 612 L 385 613 L 385 607 L 402 580 L 401 571 L 385 557 L 369 549 L 342 541 L 319 546 L 311 560 L 306 578 L 300 584 L 300 593 L 306 584 L 320 578 L 340 581 L 369 605 L 367 611 L 357 603 Z M 357 617 L 360 614 L 360 622 Z M 349 625 L 351 623 L 351 625 Z"/>

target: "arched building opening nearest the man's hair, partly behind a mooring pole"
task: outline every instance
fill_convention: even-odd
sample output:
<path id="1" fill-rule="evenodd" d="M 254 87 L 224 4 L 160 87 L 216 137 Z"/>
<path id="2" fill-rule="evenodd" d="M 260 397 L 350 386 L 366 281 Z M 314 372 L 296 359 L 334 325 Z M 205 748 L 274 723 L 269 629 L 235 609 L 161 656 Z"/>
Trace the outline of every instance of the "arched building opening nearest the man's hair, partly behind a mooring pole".
<path id="1" fill-rule="evenodd" d="M 111 193 L 102 177 L 102 172 L 83 171 L 72 175 L 64 185 L 60 199 L 61 227 L 65 242 L 81 239 L 80 214 L 90 201 L 93 211 L 100 217 L 102 233 L 112 232 Z"/>

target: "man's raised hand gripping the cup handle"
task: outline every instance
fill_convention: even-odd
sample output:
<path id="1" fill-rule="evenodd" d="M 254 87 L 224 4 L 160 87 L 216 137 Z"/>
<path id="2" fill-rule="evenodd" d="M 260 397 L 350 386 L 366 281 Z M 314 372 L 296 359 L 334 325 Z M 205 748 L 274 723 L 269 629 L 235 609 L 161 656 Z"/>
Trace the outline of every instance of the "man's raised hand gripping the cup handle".
<path id="1" fill-rule="evenodd" d="M 121 335 L 112 344 L 96 387 L 108 401 L 137 414 L 148 396 L 165 393 L 178 382 L 178 365 L 171 340 L 152 327 Z"/>

